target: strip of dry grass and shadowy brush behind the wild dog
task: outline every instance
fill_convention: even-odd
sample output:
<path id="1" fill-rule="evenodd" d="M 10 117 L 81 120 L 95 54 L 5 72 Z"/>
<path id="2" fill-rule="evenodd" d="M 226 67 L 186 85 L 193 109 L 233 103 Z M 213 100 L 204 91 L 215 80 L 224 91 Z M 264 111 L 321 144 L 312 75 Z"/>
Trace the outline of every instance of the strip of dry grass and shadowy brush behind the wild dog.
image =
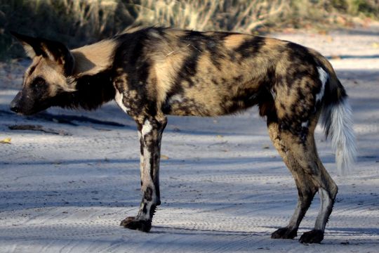
<path id="1" fill-rule="evenodd" d="M 0 0 L 0 60 L 23 56 L 8 30 L 81 46 L 135 25 L 262 33 L 379 19 L 379 0 Z"/>

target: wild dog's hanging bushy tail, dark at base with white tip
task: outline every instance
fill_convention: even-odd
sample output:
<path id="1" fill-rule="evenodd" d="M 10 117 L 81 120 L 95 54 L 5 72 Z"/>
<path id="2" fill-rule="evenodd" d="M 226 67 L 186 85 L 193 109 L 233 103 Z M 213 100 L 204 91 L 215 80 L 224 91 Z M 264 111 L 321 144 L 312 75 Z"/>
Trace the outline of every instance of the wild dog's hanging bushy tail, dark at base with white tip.
<path id="1" fill-rule="evenodd" d="M 346 175 L 351 171 L 357 156 L 352 108 L 347 101 L 346 91 L 331 64 L 323 56 L 317 58 L 327 72 L 321 124 L 324 127 L 326 138 L 331 139 L 338 174 Z"/>

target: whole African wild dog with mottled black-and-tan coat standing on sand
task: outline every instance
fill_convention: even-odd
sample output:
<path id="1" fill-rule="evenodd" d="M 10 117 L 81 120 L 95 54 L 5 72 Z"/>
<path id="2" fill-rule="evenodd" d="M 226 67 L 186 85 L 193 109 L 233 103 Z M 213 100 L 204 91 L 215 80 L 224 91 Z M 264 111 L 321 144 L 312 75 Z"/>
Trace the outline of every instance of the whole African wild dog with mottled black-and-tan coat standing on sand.
<path id="1" fill-rule="evenodd" d="M 161 204 L 159 158 L 166 115 L 219 116 L 258 105 L 275 148 L 293 174 L 298 205 L 272 238 L 295 238 L 317 193 L 321 209 L 300 242 L 321 242 L 337 186 L 317 155 L 319 117 L 340 172 L 352 164 L 351 109 L 333 67 L 317 51 L 279 39 L 230 32 L 148 27 L 69 50 L 58 41 L 13 33 L 32 65 L 11 110 L 51 106 L 92 110 L 109 100 L 133 117 L 140 139 L 142 202 L 121 226 L 150 231 Z"/>

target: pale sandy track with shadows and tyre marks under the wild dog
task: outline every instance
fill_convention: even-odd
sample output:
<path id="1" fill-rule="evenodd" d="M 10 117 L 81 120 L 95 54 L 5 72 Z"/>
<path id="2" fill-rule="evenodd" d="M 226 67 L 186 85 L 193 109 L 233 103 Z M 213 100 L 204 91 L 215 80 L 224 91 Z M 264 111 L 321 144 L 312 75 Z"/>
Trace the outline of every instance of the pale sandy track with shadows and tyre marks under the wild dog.
<path id="1" fill-rule="evenodd" d="M 291 217 L 297 191 L 256 108 L 169 117 L 152 231 L 121 228 L 141 196 L 135 124 L 114 103 L 96 112 L 13 115 L 8 103 L 24 60 L 0 66 L 0 140 L 12 138 L 0 144 L 0 252 L 379 252 L 379 32 L 274 36 L 331 58 L 354 110 L 359 156 L 351 176 L 336 175 L 330 143 L 317 129 L 321 160 L 340 187 L 321 245 L 270 239 Z M 88 118 L 59 122 L 56 115 Z M 15 124 L 58 134 L 8 129 Z M 299 235 L 318 209 L 316 195 Z"/>

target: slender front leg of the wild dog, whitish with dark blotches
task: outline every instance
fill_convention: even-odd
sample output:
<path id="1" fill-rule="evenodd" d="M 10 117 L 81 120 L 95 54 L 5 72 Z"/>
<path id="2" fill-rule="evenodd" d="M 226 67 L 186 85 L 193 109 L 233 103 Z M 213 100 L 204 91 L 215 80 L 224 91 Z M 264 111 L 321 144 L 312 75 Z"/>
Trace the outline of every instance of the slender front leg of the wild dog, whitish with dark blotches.
<path id="1" fill-rule="evenodd" d="M 142 201 L 137 216 L 121 221 L 124 228 L 149 232 L 152 228 L 152 216 L 157 205 L 161 205 L 159 193 L 159 160 L 161 157 L 161 137 L 167 124 L 162 119 L 145 118 L 136 120 L 140 138 L 140 169 Z"/>

